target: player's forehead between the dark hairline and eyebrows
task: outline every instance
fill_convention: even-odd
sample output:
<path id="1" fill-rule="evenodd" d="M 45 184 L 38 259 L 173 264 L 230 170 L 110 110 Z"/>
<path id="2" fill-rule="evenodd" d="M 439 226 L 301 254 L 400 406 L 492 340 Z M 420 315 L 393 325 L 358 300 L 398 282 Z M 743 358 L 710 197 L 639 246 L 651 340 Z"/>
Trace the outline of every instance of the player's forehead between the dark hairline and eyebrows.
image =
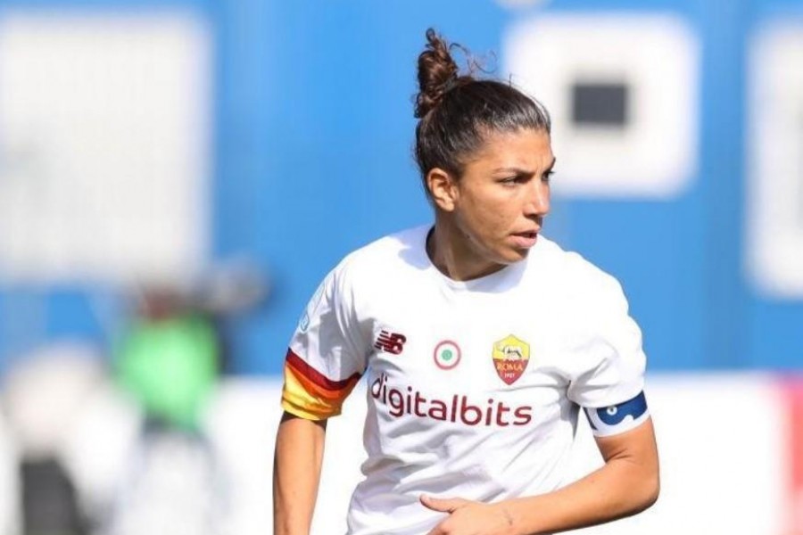
<path id="1" fill-rule="evenodd" d="M 550 135 L 543 130 L 489 132 L 467 164 L 483 168 L 541 168 L 552 162 Z"/>

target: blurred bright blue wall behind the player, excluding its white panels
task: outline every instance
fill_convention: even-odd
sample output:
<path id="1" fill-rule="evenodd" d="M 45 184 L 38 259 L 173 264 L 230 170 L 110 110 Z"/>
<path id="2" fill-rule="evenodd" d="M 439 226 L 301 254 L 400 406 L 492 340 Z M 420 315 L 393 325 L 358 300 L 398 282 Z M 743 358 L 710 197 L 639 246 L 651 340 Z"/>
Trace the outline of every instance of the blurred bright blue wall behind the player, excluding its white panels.
<path id="1" fill-rule="evenodd" d="M 265 303 L 224 320 L 234 374 L 279 374 L 295 322 L 328 269 L 362 244 L 431 219 L 411 157 L 416 57 L 427 27 L 478 55 L 495 52 L 495 74 L 506 78 L 510 29 L 544 16 L 609 13 L 669 15 L 699 45 L 691 171 L 666 194 L 558 192 L 545 235 L 619 278 L 651 370 L 803 367 L 803 297 L 762 291 L 746 237 L 757 223 L 747 185 L 761 179 L 749 172 L 753 37 L 768 22 L 803 20 L 799 0 L 0 0 L 0 21 L 87 13 L 184 17 L 208 40 L 211 141 L 208 180 L 198 183 L 208 188 L 208 218 L 194 265 L 203 272 L 245 258 L 270 288 Z M 129 106 L 136 110 L 137 101 Z M 0 228 L 14 232 L 21 230 Z M 0 244 L 0 265 L 6 252 Z M 110 325 L 126 313 L 120 295 L 130 281 L 80 269 L 4 273 L 3 366 L 65 338 L 107 346 Z"/>

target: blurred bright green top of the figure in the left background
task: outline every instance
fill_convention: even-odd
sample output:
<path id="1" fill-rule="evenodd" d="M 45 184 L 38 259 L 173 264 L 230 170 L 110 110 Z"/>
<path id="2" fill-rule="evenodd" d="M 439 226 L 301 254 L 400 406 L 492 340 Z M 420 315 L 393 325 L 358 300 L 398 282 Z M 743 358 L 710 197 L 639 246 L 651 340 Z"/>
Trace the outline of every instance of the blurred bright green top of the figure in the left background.
<path id="1" fill-rule="evenodd" d="M 210 323 L 197 315 L 138 320 L 115 355 L 122 386 L 146 416 L 196 430 L 218 375 L 218 344 Z"/>

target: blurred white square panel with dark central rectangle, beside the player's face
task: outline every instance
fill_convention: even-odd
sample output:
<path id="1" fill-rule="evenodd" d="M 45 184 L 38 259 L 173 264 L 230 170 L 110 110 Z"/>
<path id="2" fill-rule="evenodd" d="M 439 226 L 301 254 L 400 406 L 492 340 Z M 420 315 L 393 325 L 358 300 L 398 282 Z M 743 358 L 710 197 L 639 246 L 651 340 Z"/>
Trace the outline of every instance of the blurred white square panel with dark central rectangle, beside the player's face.
<path id="1" fill-rule="evenodd" d="M 503 58 L 551 113 L 555 193 L 668 198 L 696 173 L 700 44 L 683 20 L 541 14 L 509 29 Z"/>

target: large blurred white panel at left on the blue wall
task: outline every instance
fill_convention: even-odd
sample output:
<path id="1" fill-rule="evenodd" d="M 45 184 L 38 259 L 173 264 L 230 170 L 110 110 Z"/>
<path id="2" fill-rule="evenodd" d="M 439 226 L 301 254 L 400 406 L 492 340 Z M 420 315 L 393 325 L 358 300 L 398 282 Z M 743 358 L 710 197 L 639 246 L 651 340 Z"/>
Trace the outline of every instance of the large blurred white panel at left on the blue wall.
<path id="1" fill-rule="evenodd" d="M 0 19 L 0 278 L 186 277 L 208 241 L 211 36 L 188 13 Z"/>

